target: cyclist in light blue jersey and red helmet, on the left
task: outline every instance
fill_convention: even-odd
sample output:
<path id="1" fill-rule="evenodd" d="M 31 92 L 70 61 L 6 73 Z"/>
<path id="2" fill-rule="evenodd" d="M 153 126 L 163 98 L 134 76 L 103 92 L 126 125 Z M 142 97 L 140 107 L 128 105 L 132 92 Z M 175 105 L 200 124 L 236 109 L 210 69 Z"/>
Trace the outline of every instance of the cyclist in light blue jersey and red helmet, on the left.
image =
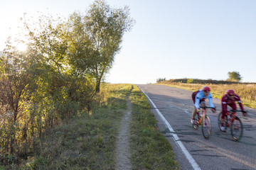
<path id="1" fill-rule="evenodd" d="M 194 103 L 194 109 L 192 113 L 191 123 L 195 123 L 196 113 L 199 113 L 200 106 L 206 106 L 206 98 L 209 100 L 209 106 L 212 107 L 213 113 L 215 113 L 215 106 L 213 105 L 213 95 L 210 93 L 210 87 L 204 86 L 202 90 L 193 92 L 192 100 Z"/>

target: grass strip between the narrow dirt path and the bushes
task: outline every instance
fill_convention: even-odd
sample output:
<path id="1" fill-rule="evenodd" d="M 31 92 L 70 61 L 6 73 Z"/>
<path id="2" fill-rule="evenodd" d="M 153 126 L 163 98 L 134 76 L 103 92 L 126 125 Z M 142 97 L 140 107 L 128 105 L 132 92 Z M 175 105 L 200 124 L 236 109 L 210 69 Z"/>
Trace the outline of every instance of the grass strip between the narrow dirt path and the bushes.
<path id="1" fill-rule="evenodd" d="M 114 169 L 115 143 L 130 84 L 102 84 L 92 113 L 45 132 L 38 152 L 20 169 Z"/>

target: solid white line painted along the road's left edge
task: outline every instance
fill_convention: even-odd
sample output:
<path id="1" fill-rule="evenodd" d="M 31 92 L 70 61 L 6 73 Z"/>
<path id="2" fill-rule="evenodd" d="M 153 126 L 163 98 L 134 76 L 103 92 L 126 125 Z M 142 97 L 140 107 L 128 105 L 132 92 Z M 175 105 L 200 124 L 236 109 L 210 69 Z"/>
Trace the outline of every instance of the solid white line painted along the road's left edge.
<path id="1" fill-rule="evenodd" d="M 139 87 L 139 86 L 138 86 Z M 139 89 L 142 91 L 142 93 L 145 94 L 145 92 L 139 87 Z M 146 95 L 146 94 L 145 94 Z M 174 139 L 174 142 L 176 142 L 176 145 L 178 145 L 178 147 L 181 149 L 181 151 L 183 152 L 183 154 L 185 154 L 186 159 L 188 159 L 188 162 L 191 164 L 191 166 L 193 167 L 193 169 L 195 170 L 201 170 L 201 168 L 198 166 L 198 164 L 196 163 L 195 159 L 193 159 L 193 157 L 191 156 L 191 154 L 189 154 L 188 150 L 186 149 L 186 147 L 183 145 L 183 143 L 181 142 L 181 140 L 179 139 L 178 135 L 176 135 L 176 132 L 174 131 L 173 128 L 171 128 L 171 125 L 169 124 L 169 122 L 166 120 L 166 118 L 164 118 L 164 115 L 161 114 L 161 112 L 158 110 L 158 108 L 156 108 L 156 105 L 153 103 L 153 101 L 151 101 L 151 99 L 149 98 L 149 96 L 146 95 L 146 97 L 149 99 L 149 101 L 152 103 L 152 106 L 155 108 L 156 112 L 158 113 L 158 115 L 160 116 L 161 120 L 163 120 L 164 124 L 166 125 L 166 127 L 170 130 L 170 134 Z"/>

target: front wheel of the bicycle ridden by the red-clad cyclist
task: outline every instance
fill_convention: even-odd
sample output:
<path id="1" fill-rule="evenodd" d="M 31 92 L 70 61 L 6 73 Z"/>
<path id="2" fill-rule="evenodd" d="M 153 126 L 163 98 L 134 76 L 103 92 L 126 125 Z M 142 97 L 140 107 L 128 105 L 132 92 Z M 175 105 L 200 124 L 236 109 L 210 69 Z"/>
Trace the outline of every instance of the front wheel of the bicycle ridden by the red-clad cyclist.
<path id="1" fill-rule="evenodd" d="M 230 125 L 230 131 L 231 131 L 233 140 L 235 141 L 241 140 L 243 127 L 242 127 L 242 121 L 240 120 L 240 118 L 235 117 L 235 120 L 233 120 L 233 122 Z"/>

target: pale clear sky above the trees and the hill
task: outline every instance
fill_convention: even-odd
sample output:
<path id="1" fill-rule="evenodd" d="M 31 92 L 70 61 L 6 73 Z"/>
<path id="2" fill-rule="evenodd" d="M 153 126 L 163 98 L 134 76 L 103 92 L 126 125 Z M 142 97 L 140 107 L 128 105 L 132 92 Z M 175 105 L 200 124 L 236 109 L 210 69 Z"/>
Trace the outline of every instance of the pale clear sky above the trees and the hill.
<path id="1" fill-rule="evenodd" d="M 239 72 L 256 82 L 255 0 L 105 0 L 112 8 L 129 6 L 136 23 L 105 81 L 149 84 L 156 79 L 228 79 Z M 0 51 L 18 32 L 23 13 L 69 16 L 85 12 L 92 0 L 9 0 L 0 2 Z"/>

